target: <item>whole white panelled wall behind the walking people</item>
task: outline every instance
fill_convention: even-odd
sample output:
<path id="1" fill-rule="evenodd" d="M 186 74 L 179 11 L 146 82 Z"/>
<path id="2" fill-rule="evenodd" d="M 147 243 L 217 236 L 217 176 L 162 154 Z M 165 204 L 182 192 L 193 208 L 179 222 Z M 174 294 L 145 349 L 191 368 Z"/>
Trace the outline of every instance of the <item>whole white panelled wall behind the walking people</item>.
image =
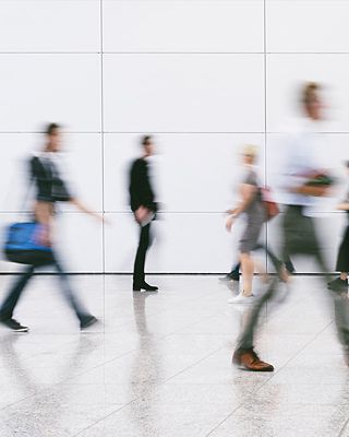
<path id="1" fill-rule="evenodd" d="M 301 81 L 330 85 L 322 154 L 338 172 L 349 157 L 348 22 L 349 0 L 0 0 L 2 225 L 19 216 L 43 123 L 62 123 L 73 187 L 109 222 L 62 206 L 70 271 L 130 272 L 137 228 L 125 175 L 140 134 L 154 133 L 164 212 L 147 270 L 228 270 L 237 236 L 222 211 L 239 151 L 258 144 L 272 178 Z M 323 211 L 333 267 L 341 224 Z M 16 268 L 1 262 L 3 272 Z M 306 261 L 297 269 L 315 271 Z"/>

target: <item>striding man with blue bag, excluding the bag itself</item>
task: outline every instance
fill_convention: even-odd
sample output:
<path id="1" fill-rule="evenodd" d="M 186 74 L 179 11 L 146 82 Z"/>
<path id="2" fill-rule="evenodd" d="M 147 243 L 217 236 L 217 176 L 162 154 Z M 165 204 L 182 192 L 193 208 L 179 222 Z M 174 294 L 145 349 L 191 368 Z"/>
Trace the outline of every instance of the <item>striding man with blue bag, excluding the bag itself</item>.
<path id="1" fill-rule="evenodd" d="M 50 123 L 46 129 L 46 143 L 44 151 L 35 154 L 29 162 L 29 173 L 33 185 L 36 188 L 36 197 L 33 205 L 34 220 L 40 223 L 41 234 L 39 235 L 40 244 L 44 246 L 52 246 L 52 233 L 55 214 L 57 213 L 57 202 L 70 202 L 79 210 L 94 215 L 100 216 L 87 210 L 75 197 L 73 197 L 64 180 L 62 179 L 59 166 L 58 154 L 61 149 L 61 129 L 57 123 Z M 95 324 L 97 319 L 82 305 L 74 295 L 68 276 L 64 273 L 61 261 L 59 260 L 56 250 L 53 250 L 52 264 L 56 268 L 61 284 L 62 294 L 68 304 L 75 312 L 80 328 L 85 329 Z M 19 299 L 32 279 L 35 269 L 38 265 L 28 265 L 23 274 L 21 274 L 13 283 L 5 299 L 0 307 L 0 322 L 8 328 L 17 332 L 27 332 L 28 328 L 22 326 L 13 318 L 13 312 L 19 303 Z"/>

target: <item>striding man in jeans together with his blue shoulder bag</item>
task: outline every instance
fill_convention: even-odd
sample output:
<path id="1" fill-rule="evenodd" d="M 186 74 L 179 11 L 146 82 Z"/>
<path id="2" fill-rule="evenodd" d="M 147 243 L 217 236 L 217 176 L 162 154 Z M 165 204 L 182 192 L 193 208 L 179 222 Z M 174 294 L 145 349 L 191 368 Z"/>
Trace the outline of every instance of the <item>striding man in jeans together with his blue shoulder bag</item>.
<path id="1" fill-rule="evenodd" d="M 48 125 L 46 139 L 44 151 L 33 156 L 29 162 L 32 184 L 36 189 L 33 208 L 34 221 L 11 225 L 4 247 L 4 252 L 10 261 L 27 264 L 26 270 L 16 277 L 0 306 L 0 322 L 16 332 L 28 331 L 27 327 L 22 326 L 13 318 L 14 309 L 23 291 L 37 267 L 50 264 L 58 272 L 62 294 L 75 312 L 80 328 L 85 329 L 97 322 L 96 317 L 83 306 L 71 290 L 68 276 L 52 247 L 52 225 L 57 202 L 70 202 L 87 214 L 99 220 L 101 217 L 72 197 L 67 184 L 61 178 L 57 165 L 57 155 L 61 144 L 60 127 L 56 123 Z"/>

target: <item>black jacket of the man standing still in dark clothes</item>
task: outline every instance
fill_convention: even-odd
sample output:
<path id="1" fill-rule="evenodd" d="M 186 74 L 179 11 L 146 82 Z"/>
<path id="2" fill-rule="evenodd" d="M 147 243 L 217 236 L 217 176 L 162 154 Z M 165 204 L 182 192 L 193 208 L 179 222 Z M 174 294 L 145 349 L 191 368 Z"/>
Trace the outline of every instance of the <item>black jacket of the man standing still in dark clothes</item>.
<path id="1" fill-rule="evenodd" d="M 148 164 L 146 160 L 135 160 L 130 169 L 130 203 L 134 212 L 140 206 L 157 211 L 155 194 L 149 180 Z"/>

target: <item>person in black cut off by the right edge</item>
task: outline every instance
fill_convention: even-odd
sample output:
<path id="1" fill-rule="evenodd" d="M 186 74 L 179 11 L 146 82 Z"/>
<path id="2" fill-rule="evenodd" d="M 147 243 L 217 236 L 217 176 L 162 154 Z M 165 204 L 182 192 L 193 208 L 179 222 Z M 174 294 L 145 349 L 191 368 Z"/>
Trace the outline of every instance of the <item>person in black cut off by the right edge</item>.
<path id="1" fill-rule="evenodd" d="M 349 175 L 349 161 L 346 163 L 347 173 Z M 349 191 L 347 200 L 339 203 L 338 210 L 347 213 L 347 227 L 344 233 L 341 244 L 339 246 L 336 271 L 340 272 L 340 276 L 328 283 L 328 288 L 333 291 L 348 291 L 348 272 L 349 272 Z"/>

